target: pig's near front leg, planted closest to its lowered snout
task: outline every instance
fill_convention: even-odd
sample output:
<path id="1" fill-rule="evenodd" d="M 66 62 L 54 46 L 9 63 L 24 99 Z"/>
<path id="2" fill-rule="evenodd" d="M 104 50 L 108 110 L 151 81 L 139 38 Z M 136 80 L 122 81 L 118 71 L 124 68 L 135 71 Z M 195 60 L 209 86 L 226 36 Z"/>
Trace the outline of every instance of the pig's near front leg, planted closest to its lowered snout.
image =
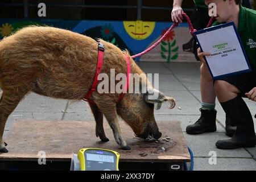
<path id="1" fill-rule="evenodd" d="M 97 103 L 97 106 L 109 122 L 109 125 L 113 130 L 115 142 L 117 142 L 123 150 L 130 150 L 131 148 L 127 146 L 121 134 L 115 102 L 108 104 L 106 104 L 107 102 L 102 102 L 102 100 L 100 102 L 101 103 Z"/>

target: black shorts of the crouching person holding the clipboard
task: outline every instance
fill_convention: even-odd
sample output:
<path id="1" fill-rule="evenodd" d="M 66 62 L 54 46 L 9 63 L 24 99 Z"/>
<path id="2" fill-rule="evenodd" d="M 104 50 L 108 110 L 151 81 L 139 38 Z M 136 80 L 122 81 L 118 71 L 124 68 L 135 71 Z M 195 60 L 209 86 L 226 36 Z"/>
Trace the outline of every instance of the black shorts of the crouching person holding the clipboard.
<path id="1" fill-rule="evenodd" d="M 256 87 L 256 72 L 242 73 L 240 75 L 217 78 L 216 80 L 224 80 L 229 82 L 240 90 L 241 97 L 246 97 L 245 93 L 250 92 L 251 89 Z"/>

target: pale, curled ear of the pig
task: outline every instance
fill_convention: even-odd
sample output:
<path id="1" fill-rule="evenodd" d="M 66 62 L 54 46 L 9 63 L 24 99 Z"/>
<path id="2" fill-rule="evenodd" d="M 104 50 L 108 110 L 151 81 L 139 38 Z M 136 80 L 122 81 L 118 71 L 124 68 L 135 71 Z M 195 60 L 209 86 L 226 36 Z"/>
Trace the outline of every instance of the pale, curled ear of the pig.
<path id="1" fill-rule="evenodd" d="M 157 104 L 156 110 L 160 109 L 163 102 L 169 102 L 171 106 L 169 109 L 175 107 L 175 99 L 172 97 L 164 96 L 163 93 L 159 92 L 158 90 L 150 90 L 151 92 L 147 92 L 144 96 L 144 100 L 150 104 Z M 154 96 L 154 97 L 153 97 Z M 156 98 L 155 98 L 156 97 Z"/>

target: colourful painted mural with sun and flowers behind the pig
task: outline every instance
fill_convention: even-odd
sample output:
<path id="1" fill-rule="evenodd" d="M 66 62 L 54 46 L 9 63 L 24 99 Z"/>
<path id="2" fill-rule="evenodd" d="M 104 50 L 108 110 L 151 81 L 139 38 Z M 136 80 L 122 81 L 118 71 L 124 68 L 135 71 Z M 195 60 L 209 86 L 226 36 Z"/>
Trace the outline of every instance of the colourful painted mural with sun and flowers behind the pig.
<path id="1" fill-rule="evenodd" d="M 13 34 L 22 27 L 31 25 L 59 27 L 94 39 L 104 39 L 121 49 L 128 49 L 130 54 L 134 55 L 154 44 L 172 23 L 140 20 L 0 19 L 0 39 Z M 138 57 L 137 61 L 195 61 L 193 54 L 189 52 L 191 38 L 187 23 L 181 23 L 179 27 L 175 27 L 168 34 L 159 46 L 146 55 Z"/>

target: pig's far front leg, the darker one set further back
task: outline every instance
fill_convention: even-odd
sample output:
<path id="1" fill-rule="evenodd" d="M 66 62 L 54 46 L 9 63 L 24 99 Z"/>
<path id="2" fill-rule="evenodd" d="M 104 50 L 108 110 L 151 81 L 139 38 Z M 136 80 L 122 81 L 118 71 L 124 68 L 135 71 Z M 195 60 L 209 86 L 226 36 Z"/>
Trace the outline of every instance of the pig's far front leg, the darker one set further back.
<path id="1" fill-rule="evenodd" d="M 89 102 L 89 105 L 96 121 L 96 137 L 100 137 L 102 142 L 108 142 L 109 139 L 106 138 L 103 127 L 103 114 L 101 113 L 100 109 L 98 109 L 98 106 L 96 104 Z"/>

